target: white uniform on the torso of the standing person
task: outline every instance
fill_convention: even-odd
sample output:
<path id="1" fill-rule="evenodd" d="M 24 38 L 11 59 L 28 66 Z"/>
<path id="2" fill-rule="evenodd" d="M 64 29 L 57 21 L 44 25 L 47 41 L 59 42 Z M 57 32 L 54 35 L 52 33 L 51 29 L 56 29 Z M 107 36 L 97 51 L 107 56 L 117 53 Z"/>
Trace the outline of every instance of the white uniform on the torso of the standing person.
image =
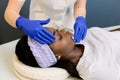
<path id="1" fill-rule="evenodd" d="M 39 20 L 51 18 L 47 27 L 59 26 L 73 29 L 73 7 L 76 0 L 31 0 L 30 19 Z"/>

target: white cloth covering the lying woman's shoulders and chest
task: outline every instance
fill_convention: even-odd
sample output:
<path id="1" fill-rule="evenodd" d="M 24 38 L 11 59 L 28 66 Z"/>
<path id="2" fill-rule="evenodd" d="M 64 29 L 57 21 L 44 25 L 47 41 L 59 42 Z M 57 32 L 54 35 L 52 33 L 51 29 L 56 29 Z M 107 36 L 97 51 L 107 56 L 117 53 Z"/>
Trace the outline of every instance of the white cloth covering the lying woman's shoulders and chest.
<path id="1" fill-rule="evenodd" d="M 120 80 L 120 31 L 88 30 L 77 71 L 84 80 Z"/>

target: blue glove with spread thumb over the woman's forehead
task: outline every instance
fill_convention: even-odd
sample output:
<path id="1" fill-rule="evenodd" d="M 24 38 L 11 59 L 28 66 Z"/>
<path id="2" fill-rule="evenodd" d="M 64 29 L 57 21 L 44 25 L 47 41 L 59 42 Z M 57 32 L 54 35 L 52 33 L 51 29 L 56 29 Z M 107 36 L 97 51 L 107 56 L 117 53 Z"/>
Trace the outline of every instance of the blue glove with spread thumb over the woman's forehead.
<path id="1" fill-rule="evenodd" d="M 55 36 L 43 27 L 44 24 L 49 23 L 47 20 L 29 20 L 24 17 L 19 17 L 16 20 L 16 27 L 23 30 L 28 36 L 35 39 L 41 44 L 50 44 L 55 40 Z"/>

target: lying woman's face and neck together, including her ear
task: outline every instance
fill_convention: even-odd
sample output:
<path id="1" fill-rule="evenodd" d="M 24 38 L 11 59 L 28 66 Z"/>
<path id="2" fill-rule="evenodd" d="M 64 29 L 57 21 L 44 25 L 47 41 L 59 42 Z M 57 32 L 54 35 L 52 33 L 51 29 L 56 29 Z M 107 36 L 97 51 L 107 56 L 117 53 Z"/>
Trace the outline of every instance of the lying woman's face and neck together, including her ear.
<path id="1" fill-rule="evenodd" d="M 58 31 L 53 28 L 48 28 L 48 30 L 56 37 L 55 42 L 49 45 L 56 58 L 58 60 L 68 60 L 77 65 L 83 55 L 84 46 L 76 45 L 72 39 L 73 34 L 68 31 Z"/>

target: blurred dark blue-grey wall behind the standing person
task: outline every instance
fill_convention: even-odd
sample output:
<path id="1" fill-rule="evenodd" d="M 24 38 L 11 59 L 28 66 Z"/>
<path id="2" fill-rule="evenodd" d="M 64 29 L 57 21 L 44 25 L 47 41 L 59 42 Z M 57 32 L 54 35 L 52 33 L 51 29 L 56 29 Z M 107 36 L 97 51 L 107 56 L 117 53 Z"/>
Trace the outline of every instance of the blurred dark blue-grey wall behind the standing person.
<path id="1" fill-rule="evenodd" d="M 24 32 L 12 28 L 4 20 L 4 11 L 8 0 L 0 0 L 0 45 L 13 41 L 24 35 Z M 20 14 L 29 16 L 30 0 L 26 0 Z M 120 0 L 87 0 L 88 27 L 108 27 L 120 25 Z"/>

